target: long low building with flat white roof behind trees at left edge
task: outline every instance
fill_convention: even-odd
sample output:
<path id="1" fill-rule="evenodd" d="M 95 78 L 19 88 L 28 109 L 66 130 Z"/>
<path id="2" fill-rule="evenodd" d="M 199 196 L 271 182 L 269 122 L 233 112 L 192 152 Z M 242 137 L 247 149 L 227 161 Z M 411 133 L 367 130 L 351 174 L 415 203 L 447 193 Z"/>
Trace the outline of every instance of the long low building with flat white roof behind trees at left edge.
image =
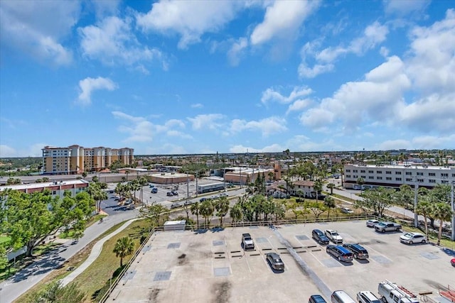
<path id="1" fill-rule="evenodd" d="M 31 194 L 33 192 L 43 192 L 45 189 L 49 189 L 53 196 L 63 197 L 63 192 L 68 190 L 73 196 L 79 192 L 83 192 L 89 186 L 89 182 L 85 180 L 65 180 L 65 181 L 53 181 L 43 183 L 31 183 L 31 184 L 12 184 L 0 187 L 0 192 L 6 189 L 14 189 L 19 192 L 25 192 Z"/>

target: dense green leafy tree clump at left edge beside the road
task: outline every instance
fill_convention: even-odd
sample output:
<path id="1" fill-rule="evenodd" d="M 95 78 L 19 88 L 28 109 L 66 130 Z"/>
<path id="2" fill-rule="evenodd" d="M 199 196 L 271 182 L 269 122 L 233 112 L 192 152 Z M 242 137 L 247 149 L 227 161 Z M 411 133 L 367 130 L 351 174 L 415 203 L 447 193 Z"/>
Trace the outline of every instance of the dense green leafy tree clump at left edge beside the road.
<path id="1" fill-rule="evenodd" d="M 48 190 L 33 194 L 11 190 L 3 200 L 1 232 L 11 237 L 13 248 L 26 246 L 26 256 L 32 256 L 33 248 L 60 228 L 72 226 L 73 231 L 84 231 L 93 203 L 87 192 L 71 197 L 67 191 L 60 199 Z"/>

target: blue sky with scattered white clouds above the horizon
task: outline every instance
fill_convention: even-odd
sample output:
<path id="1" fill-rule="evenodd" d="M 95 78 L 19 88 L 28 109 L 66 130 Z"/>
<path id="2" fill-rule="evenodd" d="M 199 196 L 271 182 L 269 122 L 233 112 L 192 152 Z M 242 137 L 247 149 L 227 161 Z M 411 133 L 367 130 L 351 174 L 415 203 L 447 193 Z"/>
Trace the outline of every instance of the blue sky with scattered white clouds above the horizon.
<path id="1" fill-rule="evenodd" d="M 0 157 L 455 148 L 454 1 L 0 1 Z"/>

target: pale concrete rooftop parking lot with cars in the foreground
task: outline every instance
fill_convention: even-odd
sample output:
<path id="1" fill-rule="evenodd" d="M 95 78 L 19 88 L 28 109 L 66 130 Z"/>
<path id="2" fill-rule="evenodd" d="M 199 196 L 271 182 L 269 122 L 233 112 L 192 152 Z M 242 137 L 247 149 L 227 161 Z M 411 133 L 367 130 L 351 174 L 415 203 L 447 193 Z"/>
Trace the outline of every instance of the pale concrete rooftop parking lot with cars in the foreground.
<path id="1" fill-rule="evenodd" d="M 369 260 L 342 263 L 311 238 L 314 228 L 336 229 L 345 243 L 360 243 Z M 255 250 L 240 246 L 250 233 Z M 415 294 L 455 285 L 454 258 L 437 246 L 400 243 L 402 233 L 376 233 L 365 221 L 253 226 L 154 234 L 108 301 L 117 302 L 306 302 L 311 294 L 330 299 L 334 290 L 351 297 L 377 293 L 392 280 Z M 265 254 L 279 253 L 284 272 L 274 272 Z"/>

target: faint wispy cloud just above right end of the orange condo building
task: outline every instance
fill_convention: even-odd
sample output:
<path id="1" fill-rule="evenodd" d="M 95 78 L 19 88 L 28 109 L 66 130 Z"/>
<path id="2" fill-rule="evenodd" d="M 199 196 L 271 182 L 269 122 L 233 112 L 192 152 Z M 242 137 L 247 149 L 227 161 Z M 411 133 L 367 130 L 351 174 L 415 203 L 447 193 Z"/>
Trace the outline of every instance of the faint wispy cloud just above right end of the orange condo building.
<path id="1" fill-rule="evenodd" d="M 153 140 L 154 125 L 145 118 L 130 116 L 122 111 L 112 111 L 112 115 L 127 123 L 118 128 L 121 133 L 127 133 L 129 136 L 124 142 L 149 142 Z"/>

